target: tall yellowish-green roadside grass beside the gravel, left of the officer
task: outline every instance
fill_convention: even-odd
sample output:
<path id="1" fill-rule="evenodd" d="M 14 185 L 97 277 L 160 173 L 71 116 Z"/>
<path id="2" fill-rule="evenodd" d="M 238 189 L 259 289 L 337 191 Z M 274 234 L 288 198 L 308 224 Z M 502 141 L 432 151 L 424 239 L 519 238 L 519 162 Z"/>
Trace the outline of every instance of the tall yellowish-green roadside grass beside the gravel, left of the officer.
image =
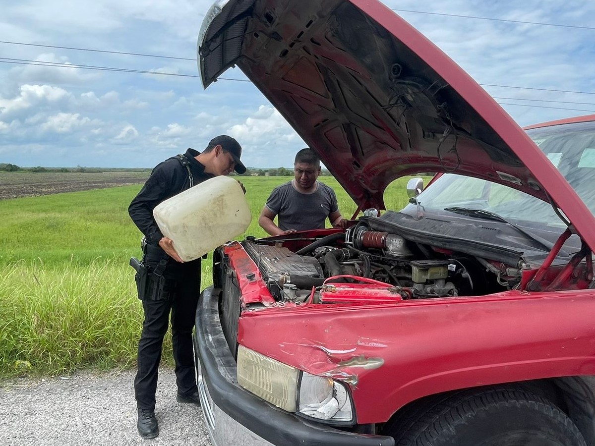
<path id="1" fill-rule="evenodd" d="M 1 376 L 20 372 L 19 360 L 36 375 L 133 364 L 142 307 L 114 260 L 17 262 L 2 268 L 0 290 Z"/>

